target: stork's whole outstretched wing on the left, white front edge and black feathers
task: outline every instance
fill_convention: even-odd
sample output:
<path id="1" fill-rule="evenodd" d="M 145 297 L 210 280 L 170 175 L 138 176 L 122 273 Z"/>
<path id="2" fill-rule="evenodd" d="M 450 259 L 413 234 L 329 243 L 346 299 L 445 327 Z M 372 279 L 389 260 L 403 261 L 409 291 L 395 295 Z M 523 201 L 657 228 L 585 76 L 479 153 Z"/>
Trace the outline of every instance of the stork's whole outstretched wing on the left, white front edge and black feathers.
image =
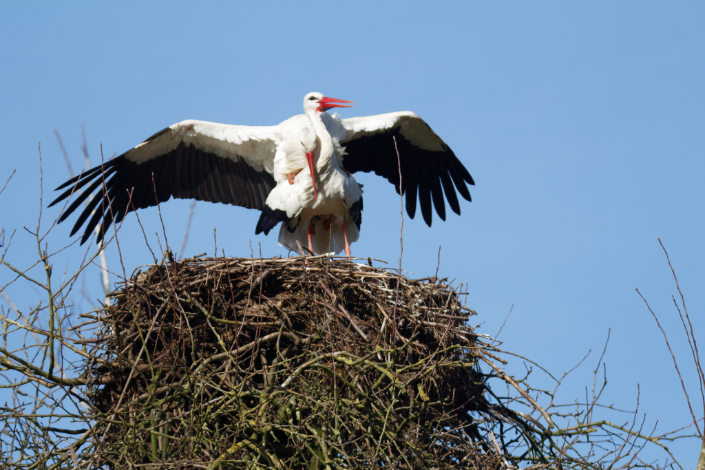
<path id="1" fill-rule="evenodd" d="M 98 190 L 71 230 L 75 234 L 90 216 L 81 245 L 99 223 L 97 241 L 113 221 L 170 197 L 262 209 L 276 185 L 271 173 L 277 142 L 270 127 L 184 120 L 63 183 L 56 190 L 68 189 L 49 206 L 90 184 L 66 208 L 61 222 Z"/>

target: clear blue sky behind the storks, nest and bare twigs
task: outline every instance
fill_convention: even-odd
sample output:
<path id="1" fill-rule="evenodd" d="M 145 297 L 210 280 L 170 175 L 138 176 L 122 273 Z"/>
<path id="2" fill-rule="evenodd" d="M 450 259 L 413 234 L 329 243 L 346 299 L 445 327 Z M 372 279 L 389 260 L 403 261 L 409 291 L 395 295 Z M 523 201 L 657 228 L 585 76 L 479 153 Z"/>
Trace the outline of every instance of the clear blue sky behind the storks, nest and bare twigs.
<path id="1" fill-rule="evenodd" d="M 477 185 L 462 216 L 405 220 L 403 268 L 467 283 L 483 333 L 555 374 L 593 354 L 561 395 L 591 383 L 599 351 L 610 383 L 603 402 L 633 408 L 637 383 L 646 428 L 690 420 L 654 320 L 656 309 L 682 361 L 691 396 L 697 380 L 675 322 L 675 285 L 656 237 L 680 276 L 697 339 L 705 340 L 705 6 L 697 2 L 405 2 L 0 4 L 0 225 L 20 229 L 8 259 L 26 266 L 35 242 L 21 228 L 39 209 L 37 142 L 49 190 L 74 168 L 85 124 L 93 163 L 183 119 L 273 125 L 301 113 L 317 91 L 356 102 L 343 116 L 410 110 L 441 135 Z M 353 254 L 396 264 L 399 199 L 375 175 L 365 187 Z M 0 183 L 0 184 L 2 184 Z M 164 204 L 178 249 L 188 202 Z M 143 211 L 147 233 L 157 212 Z M 255 236 L 258 213 L 196 205 L 185 254 L 219 249 L 286 254 Z M 71 224 L 49 239 L 58 249 Z M 160 233 L 161 233 L 161 229 Z M 149 261 L 131 215 L 120 233 L 128 270 Z M 154 235 L 150 243 L 157 245 Z M 32 256 L 28 255 L 29 252 Z M 81 256 L 71 247 L 57 266 Z M 109 262 L 117 268 L 114 249 Z M 56 268 L 55 268 L 56 269 Z M 61 269 L 63 271 L 63 268 Z M 8 279 L 0 271 L 0 283 Z M 86 289 L 99 297 L 98 272 Z M 8 290 L 23 308 L 37 292 Z M 705 344 L 705 343 L 703 343 Z M 597 353 L 597 354 L 596 354 Z M 511 359 L 510 373 L 524 373 Z M 534 385 L 545 376 L 533 378 Z M 540 387 L 539 387 L 540 388 Z M 584 396 L 584 395 L 583 395 Z M 624 418 L 626 420 L 626 418 Z M 698 444 L 674 444 L 686 468 Z M 663 454 L 660 455 L 663 457 Z"/>

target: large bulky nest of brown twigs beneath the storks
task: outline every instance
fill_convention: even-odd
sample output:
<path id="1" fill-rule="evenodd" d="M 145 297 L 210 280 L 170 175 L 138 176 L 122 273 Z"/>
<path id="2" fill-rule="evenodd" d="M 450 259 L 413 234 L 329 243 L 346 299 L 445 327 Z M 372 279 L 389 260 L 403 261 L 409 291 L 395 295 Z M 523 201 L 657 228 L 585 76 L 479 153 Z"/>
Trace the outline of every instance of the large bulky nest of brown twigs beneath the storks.
<path id="1" fill-rule="evenodd" d="M 94 463 L 497 468 L 486 423 L 516 416 L 457 289 L 323 257 L 150 266 L 102 317 Z"/>

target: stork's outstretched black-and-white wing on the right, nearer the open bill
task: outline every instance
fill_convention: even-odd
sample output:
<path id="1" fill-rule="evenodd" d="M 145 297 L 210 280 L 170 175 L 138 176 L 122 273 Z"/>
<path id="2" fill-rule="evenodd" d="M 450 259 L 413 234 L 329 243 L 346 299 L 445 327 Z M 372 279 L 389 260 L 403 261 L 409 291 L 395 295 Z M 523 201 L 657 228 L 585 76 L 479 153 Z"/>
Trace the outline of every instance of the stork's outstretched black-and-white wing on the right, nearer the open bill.
<path id="1" fill-rule="evenodd" d="M 345 169 L 374 171 L 392 183 L 397 192 L 406 194 L 406 211 L 411 218 L 416 214 L 416 196 L 424 221 L 431 226 L 431 199 L 441 220 L 446 220 L 446 193 L 450 209 L 460 214 L 458 196 L 470 199 L 467 184 L 474 185 L 472 176 L 460 163 L 446 142 L 429 125 L 410 111 L 378 114 L 361 118 L 326 119 L 326 127 L 338 137 L 347 153 L 343 158 Z M 341 129 L 342 126 L 342 129 Z M 344 132 L 343 132 L 344 130 Z M 396 138 L 399 162 L 394 147 Z M 401 189 L 399 167 L 401 166 Z M 441 189 L 442 186 L 442 189 Z"/>

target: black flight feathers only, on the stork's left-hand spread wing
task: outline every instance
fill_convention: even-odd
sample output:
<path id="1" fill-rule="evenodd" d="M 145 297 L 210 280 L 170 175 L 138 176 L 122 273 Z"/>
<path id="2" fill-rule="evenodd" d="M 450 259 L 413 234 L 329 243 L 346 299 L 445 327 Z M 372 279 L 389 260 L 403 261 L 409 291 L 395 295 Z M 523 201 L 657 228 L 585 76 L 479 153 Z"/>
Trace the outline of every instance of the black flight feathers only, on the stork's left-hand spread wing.
<path id="1" fill-rule="evenodd" d="M 153 137 L 163 132 L 166 130 L 157 132 Z M 195 146 L 181 143 L 176 149 L 143 163 L 128 160 L 125 153 L 102 166 L 85 171 L 56 188 L 62 190 L 71 186 L 71 189 L 64 191 L 49 206 L 70 197 L 75 190 L 89 184 L 87 190 L 66 208 L 59 219 L 66 220 L 97 190 L 96 196 L 83 209 L 71 231 L 71 235 L 76 233 L 90 218 L 81 237 L 81 245 L 90 238 L 98 224 L 101 231 L 97 241 L 100 241 L 113 221 L 119 223 L 129 212 L 156 206 L 157 202 L 166 202 L 171 197 L 193 198 L 261 210 L 264 208 L 264 200 L 276 186 L 269 173 L 264 170 L 256 171 L 245 159 L 224 159 Z"/>

